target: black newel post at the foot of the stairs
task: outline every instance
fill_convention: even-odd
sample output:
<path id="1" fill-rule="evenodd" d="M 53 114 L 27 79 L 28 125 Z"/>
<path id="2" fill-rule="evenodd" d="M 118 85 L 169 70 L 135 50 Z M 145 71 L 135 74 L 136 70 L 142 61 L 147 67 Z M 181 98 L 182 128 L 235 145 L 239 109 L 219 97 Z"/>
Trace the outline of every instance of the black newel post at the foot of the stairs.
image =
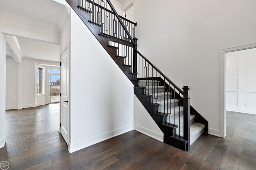
<path id="1" fill-rule="evenodd" d="M 184 139 L 188 141 L 186 150 L 190 150 L 190 86 L 183 86 L 183 114 L 184 114 Z"/>

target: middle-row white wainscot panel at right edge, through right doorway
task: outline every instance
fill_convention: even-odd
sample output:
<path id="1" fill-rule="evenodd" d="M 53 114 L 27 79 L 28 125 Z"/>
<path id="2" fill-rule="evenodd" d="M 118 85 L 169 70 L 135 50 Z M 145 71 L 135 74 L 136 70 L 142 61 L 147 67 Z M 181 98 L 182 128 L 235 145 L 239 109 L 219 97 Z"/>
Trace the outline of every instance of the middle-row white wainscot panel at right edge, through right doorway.
<path id="1" fill-rule="evenodd" d="M 241 80 L 242 90 L 256 90 L 256 74 L 242 74 Z"/>

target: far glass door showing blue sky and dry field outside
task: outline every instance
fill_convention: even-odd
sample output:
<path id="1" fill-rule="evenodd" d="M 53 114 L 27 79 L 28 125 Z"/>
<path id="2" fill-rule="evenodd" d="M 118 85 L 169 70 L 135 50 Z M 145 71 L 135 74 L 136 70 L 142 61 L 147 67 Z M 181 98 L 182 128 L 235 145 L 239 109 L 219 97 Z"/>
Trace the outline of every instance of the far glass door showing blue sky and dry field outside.
<path id="1" fill-rule="evenodd" d="M 60 102 L 60 70 L 48 70 L 50 78 L 50 102 Z"/>

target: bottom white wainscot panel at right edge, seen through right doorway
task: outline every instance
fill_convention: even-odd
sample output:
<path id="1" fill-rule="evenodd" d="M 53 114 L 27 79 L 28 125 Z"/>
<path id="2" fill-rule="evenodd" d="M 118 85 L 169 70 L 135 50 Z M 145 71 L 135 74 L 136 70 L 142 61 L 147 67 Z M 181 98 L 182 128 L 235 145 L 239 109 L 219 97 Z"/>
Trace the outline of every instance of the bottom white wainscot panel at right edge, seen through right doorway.
<path id="1" fill-rule="evenodd" d="M 248 107 L 246 107 L 246 104 L 248 105 Z M 256 109 L 256 93 L 242 92 L 241 107 L 248 108 L 248 109 Z"/>

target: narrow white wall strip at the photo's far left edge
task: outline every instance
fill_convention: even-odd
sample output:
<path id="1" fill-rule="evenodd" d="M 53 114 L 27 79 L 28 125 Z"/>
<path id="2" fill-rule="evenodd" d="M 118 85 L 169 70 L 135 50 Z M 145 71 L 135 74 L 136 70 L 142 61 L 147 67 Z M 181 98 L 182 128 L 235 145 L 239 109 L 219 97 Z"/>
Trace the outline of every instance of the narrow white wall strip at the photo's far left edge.
<path id="1" fill-rule="evenodd" d="M 0 32 L 0 148 L 5 145 L 5 49 L 4 34 Z"/>

